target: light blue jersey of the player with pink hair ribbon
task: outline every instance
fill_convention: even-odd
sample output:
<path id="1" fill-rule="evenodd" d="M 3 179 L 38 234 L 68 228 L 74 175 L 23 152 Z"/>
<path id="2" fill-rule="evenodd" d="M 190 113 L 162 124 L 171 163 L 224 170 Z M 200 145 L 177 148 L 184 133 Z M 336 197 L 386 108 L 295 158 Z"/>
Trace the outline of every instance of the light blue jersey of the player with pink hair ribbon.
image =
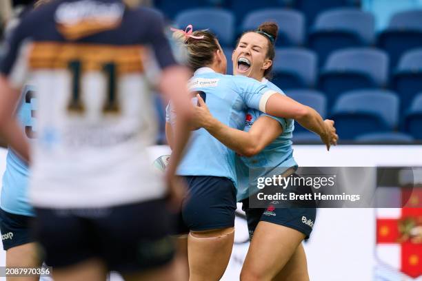
<path id="1" fill-rule="evenodd" d="M 191 91 L 205 92 L 205 103 L 214 118 L 236 129 L 243 129 L 248 108 L 265 109 L 268 96 L 274 90 L 245 76 L 231 76 L 202 67 L 190 80 Z M 167 120 L 172 123 L 171 110 Z M 221 176 L 237 185 L 234 152 L 225 147 L 205 129 L 192 132 L 186 154 L 177 174 L 180 176 Z"/>

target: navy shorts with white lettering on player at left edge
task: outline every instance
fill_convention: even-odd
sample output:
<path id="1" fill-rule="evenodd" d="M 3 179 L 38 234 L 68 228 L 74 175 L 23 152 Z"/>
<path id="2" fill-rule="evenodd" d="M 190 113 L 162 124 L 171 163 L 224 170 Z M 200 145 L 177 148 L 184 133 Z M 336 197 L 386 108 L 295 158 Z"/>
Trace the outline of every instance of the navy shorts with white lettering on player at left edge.
<path id="1" fill-rule="evenodd" d="M 32 216 L 11 214 L 0 209 L 0 232 L 3 249 L 8 250 L 34 242 L 30 231 L 33 220 Z"/>

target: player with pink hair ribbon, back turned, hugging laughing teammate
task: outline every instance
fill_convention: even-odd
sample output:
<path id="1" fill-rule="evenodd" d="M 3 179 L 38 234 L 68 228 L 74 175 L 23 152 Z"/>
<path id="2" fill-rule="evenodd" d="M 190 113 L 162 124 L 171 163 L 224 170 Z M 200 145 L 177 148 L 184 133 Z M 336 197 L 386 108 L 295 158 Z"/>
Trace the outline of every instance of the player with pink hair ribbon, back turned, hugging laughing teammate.
<path id="1" fill-rule="evenodd" d="M 227 61 L 210 32 L 177 32 L 187 50 L 192 96 L 197 95 L 212 115 L 228 127 L 243 129 L 248 108 L 283 118 L 296 118 L 332 143 L 330 128 L 310 107 L 278 94 L 245 76 L 225 75 Z M 195 101 L 195 99 L 194 99 Z M 172 133 L 170 120 L 166 131 Z M 169 137 L 171 145 L 171 136 Z M 190 278 L 219 280 L 227 267 L 234 238 L 237 176 L 234 152 L 212 138 L 205 129 L 192 133 L 177 174 L 188 181 L 189 198 L 183 202 L 181 229 L 187 233 Z"/>

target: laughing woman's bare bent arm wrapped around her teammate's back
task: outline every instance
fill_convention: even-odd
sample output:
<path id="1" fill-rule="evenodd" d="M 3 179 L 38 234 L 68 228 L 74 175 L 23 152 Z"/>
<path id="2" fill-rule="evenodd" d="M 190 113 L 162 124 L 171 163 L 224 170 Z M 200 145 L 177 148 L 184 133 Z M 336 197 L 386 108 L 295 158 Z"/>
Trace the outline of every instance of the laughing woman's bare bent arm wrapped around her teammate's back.
<path id="1" fill-rule="evenodd" d="M 214 118 L 201 96 L 197 98 L 200 106 L 195 107 L 195 127 L 203 127 L 237 154 L 254 156 L 283 132 L 280 123 L 268 116 L 261 116 L 249 132 L 234 129 Z"/>

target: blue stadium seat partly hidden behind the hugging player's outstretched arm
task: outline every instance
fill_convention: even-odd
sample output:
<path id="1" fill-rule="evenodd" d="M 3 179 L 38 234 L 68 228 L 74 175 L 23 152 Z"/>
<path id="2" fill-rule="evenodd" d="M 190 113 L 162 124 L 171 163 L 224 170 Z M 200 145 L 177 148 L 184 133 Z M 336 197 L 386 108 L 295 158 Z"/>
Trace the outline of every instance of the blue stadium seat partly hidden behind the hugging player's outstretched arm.
<path id="1" fill-rule="evenodd" d="M 302 103 L 303 105 L 308 105 L 316 110 L 323 118 L 327 115 L 327 99 L 324 94 L 315 90 L 308 89 L 297 89 L 297 90 L 288 90 L 285 92 L 290 98 L 293 98 L 294 101 Z M 294 123 L 294 133 L 297 132 L 308 132 L 303 128 L 299 123 Z"/>

